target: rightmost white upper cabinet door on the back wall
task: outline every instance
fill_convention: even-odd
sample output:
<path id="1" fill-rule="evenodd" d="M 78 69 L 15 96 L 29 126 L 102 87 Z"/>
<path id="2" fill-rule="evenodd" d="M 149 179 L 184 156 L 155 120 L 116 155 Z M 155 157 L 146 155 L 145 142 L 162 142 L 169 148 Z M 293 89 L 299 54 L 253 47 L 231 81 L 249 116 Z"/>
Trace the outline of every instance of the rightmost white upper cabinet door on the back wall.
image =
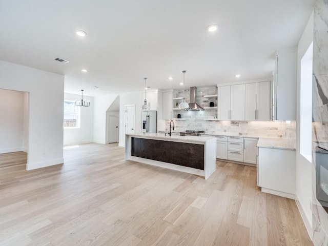
<path id="1" fill-rule="evenodd" d="M 257 83 L 257 119 L 270 120 L 270 81 Z"/>

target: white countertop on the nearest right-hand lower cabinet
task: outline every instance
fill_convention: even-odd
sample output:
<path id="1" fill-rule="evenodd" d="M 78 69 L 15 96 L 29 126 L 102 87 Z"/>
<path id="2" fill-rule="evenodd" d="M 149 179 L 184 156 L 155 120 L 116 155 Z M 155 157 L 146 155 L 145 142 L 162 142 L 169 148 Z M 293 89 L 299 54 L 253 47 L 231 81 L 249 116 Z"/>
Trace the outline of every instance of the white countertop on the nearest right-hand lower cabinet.
<path id="1" fill-rule="evenodd" d="M 259 137 L 257 147 L 296 150 L 295 139 L 281 137 Z"/>

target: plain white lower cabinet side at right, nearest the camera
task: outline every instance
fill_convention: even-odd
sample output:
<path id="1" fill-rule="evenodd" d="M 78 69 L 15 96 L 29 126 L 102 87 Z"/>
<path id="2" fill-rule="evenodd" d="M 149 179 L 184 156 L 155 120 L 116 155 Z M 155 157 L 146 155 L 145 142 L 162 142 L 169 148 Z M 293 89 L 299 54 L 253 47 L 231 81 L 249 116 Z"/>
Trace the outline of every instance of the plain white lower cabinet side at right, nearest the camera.
<path id="1" fill-rule="evenodd" d="M 258 148 L 258 186 L 263 192 L 294 198 L 295 150 Z"/>

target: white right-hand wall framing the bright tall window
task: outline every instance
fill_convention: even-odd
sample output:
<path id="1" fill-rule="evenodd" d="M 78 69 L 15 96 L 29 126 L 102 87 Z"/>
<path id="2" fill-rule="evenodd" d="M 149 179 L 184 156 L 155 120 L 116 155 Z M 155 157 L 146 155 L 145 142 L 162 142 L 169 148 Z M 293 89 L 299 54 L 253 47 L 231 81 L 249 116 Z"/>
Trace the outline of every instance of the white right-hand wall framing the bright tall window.
<path id="1" fill-rule="evenodd" d="M 313 13 L 299 40 L 297 48 L 297 110 L 296 110 L 296 203 L 306 228 L 312 236 L 312 166 L 300 154 L 300 66 L 301 58 L 313 41 Z"/>

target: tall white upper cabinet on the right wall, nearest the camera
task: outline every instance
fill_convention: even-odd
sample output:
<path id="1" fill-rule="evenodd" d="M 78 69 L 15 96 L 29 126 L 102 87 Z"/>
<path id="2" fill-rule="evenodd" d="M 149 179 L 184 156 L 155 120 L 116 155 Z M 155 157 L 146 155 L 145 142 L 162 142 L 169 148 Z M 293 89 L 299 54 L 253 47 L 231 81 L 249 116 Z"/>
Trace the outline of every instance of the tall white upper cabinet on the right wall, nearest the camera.
<path id="1" fill-rule="evenodd" d="M 296 48 L 277 51 L 273 79 L 273 119 L 296 118 Z"/>

